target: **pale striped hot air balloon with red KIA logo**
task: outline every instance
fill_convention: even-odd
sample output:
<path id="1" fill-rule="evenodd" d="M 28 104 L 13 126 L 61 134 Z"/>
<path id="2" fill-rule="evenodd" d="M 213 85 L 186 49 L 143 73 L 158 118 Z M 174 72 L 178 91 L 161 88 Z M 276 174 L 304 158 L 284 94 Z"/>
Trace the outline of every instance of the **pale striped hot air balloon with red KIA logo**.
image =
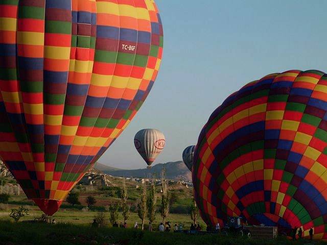
<path id="1" fill-rule="evenodd" d="M 142 129 L 134 137 L 135 148 L 148 164 L 148 168 L 151 168 L 152 162 L 162 152 L 165 144 L 165 135 L 157 129 Z"/>

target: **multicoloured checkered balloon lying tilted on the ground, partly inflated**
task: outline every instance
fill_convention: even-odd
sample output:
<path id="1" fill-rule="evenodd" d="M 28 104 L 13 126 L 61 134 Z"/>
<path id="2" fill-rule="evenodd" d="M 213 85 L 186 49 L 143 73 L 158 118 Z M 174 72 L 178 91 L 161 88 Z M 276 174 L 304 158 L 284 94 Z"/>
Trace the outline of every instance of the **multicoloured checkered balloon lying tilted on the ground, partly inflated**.
<path id="1" fill-rule="evenodd" d="M 327 239 L 327 75 L 289 70 L 231 94 L 200 133 L 192 177 L 206 224 L 244 216 Z"/>

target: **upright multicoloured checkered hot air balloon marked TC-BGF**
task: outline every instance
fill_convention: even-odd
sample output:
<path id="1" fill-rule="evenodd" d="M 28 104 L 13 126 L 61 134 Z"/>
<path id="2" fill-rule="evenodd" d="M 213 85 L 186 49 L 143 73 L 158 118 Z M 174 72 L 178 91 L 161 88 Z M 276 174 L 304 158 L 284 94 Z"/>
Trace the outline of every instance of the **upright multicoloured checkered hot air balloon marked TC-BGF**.
<path id="1" fill-rule="evenodd" d="M 153 0 L 0 3 L 0 157 L 46 214 L 143 104 L 162 40 Z"/>

